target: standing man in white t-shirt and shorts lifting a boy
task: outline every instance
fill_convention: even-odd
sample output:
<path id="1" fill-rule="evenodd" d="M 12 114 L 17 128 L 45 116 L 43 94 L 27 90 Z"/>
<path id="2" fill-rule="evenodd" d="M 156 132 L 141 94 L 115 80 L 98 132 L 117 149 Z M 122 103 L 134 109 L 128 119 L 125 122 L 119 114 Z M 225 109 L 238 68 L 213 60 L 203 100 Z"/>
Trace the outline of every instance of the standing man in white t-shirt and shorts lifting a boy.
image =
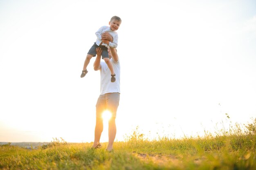
<path id="1" fill-rule="evenodd" d="M 112 42 L 113 38 L 109 33 L 102 34 L 102 42 L 109 44 Z M 96 104 L 96 126 L 94 131 L 94 144 L 92 148 L 101 148 L 100 138 L 101 132 L 103 131 L 103 118 L 102 113 L 105 110 L 110 111 L 112 114 L 110 120 L 108 121 L 108 146 L 106 151 L 113 151 L 113 144 L 117 132 L 115 118 L 117 114 L 117 108 L 119 106 L 119 97 L 120 97 L 120 63 L 117 55 L 117 50 L 109 48 L 108 54 L 110 62 L 113 65 L 116 81 L 111 82 L 110 70 L 105 62 L 101 62 L 101 52 L 102 49 L 97 48 L 97 57 L 94 61 L 94 70 L 100 70 L 101 72 L 101 93 L 99 95 L 97 104 Z"/>

